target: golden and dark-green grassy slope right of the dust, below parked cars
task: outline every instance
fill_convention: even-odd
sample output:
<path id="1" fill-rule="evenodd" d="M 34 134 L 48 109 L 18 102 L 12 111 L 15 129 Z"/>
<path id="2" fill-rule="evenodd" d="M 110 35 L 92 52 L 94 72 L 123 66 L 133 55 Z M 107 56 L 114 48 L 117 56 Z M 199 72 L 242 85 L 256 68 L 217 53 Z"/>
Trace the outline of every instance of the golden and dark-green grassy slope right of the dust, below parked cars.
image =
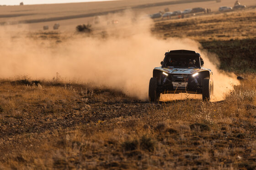
<path id="1" fill-rule="evenodd" d="M 183 20 L 157 22 L 153 33 L 161 38 L 190 38 L 219 56 L 220 69 L 237 74 L 256 71 L 256 12 L 229 12 Z"/>

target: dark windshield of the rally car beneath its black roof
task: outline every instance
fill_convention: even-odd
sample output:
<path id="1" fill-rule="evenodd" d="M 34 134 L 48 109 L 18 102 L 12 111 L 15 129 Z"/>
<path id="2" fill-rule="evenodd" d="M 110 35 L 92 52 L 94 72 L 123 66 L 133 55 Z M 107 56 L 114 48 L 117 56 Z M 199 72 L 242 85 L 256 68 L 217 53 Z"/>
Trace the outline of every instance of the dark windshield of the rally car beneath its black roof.
<path id="1" fill-rule="evenodd" d="M 199 57 L 188 56 L 168 56 L 165 60 L 168 68 L 200 68 Z"/>

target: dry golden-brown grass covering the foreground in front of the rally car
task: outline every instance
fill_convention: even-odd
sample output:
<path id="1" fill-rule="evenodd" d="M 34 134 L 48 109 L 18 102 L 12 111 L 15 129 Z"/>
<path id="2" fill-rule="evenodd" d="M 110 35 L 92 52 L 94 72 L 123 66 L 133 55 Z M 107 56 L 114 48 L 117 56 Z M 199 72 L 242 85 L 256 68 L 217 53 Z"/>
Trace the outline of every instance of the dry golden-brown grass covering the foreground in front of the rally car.
<path id="1" fill-rule="evenodd" d="M 85 100 L 85 85 L 2 81 L 0 168 L 254 169 L 255 84 L 248 77 L 220 102 L 147 104 L 97 90 Z"/>

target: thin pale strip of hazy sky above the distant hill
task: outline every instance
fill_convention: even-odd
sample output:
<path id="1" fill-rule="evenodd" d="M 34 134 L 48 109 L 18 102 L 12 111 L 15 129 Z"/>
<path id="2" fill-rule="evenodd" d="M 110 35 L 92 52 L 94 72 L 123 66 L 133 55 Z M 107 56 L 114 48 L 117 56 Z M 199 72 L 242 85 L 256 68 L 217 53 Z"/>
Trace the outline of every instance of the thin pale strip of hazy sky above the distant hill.
<path id="1" fill-rule="evenodd" d="M 56 3 L 71 3 L 71 2 L 90 2 L 90 1 L 106 1 L 106 0 L 0 0 L 0 5 L 24 5 L 31 4 L 56 4 Z"/>

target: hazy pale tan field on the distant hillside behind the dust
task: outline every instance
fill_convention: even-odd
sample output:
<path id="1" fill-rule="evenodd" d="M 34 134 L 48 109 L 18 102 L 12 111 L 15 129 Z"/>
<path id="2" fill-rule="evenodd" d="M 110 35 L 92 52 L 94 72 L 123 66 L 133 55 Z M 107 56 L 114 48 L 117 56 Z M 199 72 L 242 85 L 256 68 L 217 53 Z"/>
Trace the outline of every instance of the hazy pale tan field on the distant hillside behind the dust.
<path id="1" fill-rule="evenodd" d="M 78 24 L 94 23 L 95 16 L 105 18 L 107 14 L 132 10 L 135 15 L 149 15 L 165 8 L 170 11 L 188 8 L 211 8 L 215 13 L 220 6 L 234 6 L 234 0 L 116 0 L 103 2 L 50 4 L 50 5 L 15 5 L 0 6 L 0 26 L 13 25 L 12 30 L 42 30 L 44 25 L 59 23 L 60 30 L 73 30 Z M 241 2 L 247 7 L 255 6 L 254 0 Z M 1 4 L 0 4 L 1 5 Z M 18 24 L 18 26 L 16 25 Z M 52 28 L 50 28 L 52 30 Z"/>

